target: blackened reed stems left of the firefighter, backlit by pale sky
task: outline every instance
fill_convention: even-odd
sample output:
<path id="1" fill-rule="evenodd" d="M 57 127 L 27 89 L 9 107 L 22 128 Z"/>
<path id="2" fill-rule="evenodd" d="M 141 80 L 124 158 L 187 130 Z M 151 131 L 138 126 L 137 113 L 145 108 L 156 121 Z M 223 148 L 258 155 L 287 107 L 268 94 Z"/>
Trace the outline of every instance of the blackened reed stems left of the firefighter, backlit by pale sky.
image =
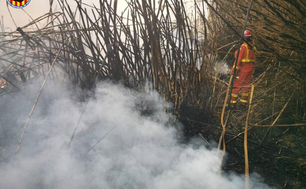
<path id="1" fill-rule="evenodd" d="M 197 69 L 205 54 L 196 21 L 204 18 L 204 12 L 202 16 L 196 12 L 204 10 L 204 2 L 196 4 L 197 10 L 190 13 L 183 0 L 136 0 L 128 2 L 122 14 L 117 13 L 116 0 L 102 0 L 99 7 L 76 1 L 77 10 L 71 10 L 66 1 L 59 3 L 61 11 L 37 18 L 18 31 L 1 34 L 1 60 L 6 65 L 2 75 L 11 84 L 15 76 L 22 81 L 32 75 L 43 76 L 42 67 L 53 61 L 63 45 L 56 62 L 81 88 L 91 88 L 96 75 L 133 86 L 150 81 L 165 100 L 175 103 L 177 114 L 186 99 L 207 107 L 202 105 L 208 103 L 206 100 L 198 99 L 211 96 L 209 80 L 214 62 L 202 64 L 205 74 L 200 75 Z M 195 22 L 190 14 L 194 14 Z M 46 24 L 39 28 L 38 22 Z M 109 44 L 112 48 L 103 62 Z M 201 81 L 203 76 L 207 79 Z"/>

